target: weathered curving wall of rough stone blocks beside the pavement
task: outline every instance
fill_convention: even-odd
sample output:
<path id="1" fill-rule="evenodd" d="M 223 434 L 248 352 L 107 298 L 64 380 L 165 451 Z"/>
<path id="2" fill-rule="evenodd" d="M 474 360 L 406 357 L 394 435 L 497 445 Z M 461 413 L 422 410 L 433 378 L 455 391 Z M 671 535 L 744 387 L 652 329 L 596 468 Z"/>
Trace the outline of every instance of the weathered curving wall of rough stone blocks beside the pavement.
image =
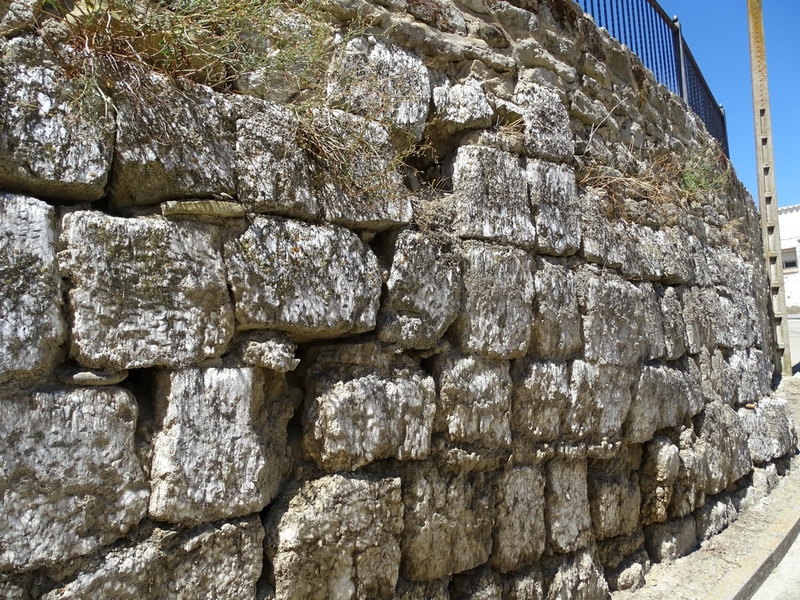
<path id="1" fill-rule="evenodd" d="M 0 596 L 606 598 L 784 473 L 751 198 L 642 193 L 710 138 L 569 0 L 336 0 L 364 194 L 7 5 Z"/>

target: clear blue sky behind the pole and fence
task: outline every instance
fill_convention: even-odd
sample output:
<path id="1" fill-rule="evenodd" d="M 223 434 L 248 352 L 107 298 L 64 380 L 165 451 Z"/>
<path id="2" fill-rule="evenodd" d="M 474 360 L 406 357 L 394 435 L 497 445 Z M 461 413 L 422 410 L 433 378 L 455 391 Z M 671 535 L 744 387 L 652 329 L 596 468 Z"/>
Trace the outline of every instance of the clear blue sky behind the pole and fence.
<path id="1" fill-rule="evenodd" d="M 659 0 L 725 107 L 733 166 L 757 197 L 747 0 Z M 778 205 L 800 204 L 800 0 L 763 0 Z"/>

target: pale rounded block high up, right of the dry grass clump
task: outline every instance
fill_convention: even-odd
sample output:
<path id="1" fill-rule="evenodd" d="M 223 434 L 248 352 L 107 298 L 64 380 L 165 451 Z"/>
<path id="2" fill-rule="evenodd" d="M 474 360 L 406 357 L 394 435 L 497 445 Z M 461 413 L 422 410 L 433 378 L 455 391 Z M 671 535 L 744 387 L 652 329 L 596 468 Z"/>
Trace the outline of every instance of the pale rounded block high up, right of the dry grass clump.
<path id="1" fill-rule="evenodd" d="M 391 123 L 412 143 L 422 138 L 431 83 L 421 58 L 396 44 L 358 37 L 347 43 L 331 73 L 330 102 Z"/>

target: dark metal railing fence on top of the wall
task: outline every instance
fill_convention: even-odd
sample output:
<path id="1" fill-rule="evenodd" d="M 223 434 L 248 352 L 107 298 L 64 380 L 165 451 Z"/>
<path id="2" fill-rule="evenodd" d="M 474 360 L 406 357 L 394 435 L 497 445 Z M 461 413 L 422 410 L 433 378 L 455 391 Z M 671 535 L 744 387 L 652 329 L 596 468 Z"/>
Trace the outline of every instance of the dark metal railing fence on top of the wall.
<path id="1" fill-rule="evenodd" d="M 681 25 L 656 0 L 577 0 L 600 27 L 627 45 L 661 83 L 681 96 L 728 154 L 725 111 L 714 99 Z"/>

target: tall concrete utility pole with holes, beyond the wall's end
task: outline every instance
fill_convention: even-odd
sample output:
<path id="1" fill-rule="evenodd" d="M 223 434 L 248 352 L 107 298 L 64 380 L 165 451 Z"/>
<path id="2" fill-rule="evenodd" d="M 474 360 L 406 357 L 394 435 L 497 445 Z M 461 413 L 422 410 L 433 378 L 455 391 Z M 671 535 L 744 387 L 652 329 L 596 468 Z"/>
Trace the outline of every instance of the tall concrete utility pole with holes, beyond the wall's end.
<path id="1" fill-rule="evenodd" d="M 761 0 L 747 0 L 750 23 L 750 69 L 753 77 L 753 112 L 756 124 L 756 163 L 758 167 L 758 206 L 761 211 L 761 239 L 769 269 L 770 295 L 775 322 L 775 373 L 791 376 L 789 324 L 786 320 L 786 295 L 783 289 L 783 257 L 778 225 L 778 196 L 775 190 L 775 156 L 767 84 L 767 52 L 764 44 L 764 18 Z"/>

